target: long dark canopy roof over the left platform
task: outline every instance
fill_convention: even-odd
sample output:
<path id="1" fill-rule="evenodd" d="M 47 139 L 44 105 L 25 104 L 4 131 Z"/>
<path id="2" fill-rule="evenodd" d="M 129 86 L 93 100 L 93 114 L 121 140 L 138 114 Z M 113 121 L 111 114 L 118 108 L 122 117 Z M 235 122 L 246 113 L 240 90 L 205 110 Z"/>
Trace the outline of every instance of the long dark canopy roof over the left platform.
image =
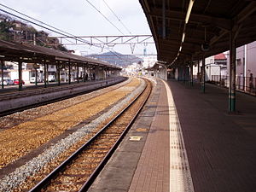
<path id="1" fill-rule="evenodd" d="M 90 65 L 108 67 L 121 70 L 120 67 L 111 65 L 106 61 L 99 61 L 92 58 L 73 55 L 61 50 L 50 49 L 32 44 L 17 44 L 0 40 L 0 59 L 3 61 L 23 61 L 23 62 L 50 62 L 55 65 L 55 61 L 77 63 L 79 65 Z"/>

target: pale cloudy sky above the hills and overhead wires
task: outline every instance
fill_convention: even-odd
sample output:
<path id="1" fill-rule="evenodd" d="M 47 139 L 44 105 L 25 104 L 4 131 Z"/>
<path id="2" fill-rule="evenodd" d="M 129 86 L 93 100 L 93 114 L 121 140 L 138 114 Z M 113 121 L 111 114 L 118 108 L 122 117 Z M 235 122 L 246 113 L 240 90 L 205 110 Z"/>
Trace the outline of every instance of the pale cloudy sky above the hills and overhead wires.
<path id="1" fill-rule="evenodd" d="M 151 34 L 147 19 L 138 0 L 88 1 L 90 1 L 96 9 L 99 9 L 108 20 L 111 20 L 125 35 L 130 35 L 129 32 L 131 32 L 132 35 Z M 108 3 L 108 6 L 113 10 L 115 15 L 125 24 L 129 32 L 108 9 L 104 1 Z M 92 7 L 87 0 L 1 0 L 0 3 L 75 36 L 122 35 L 121 32 Z M 0 8 L 8 10 L 3 8 L 3 6 L 0 6 Z M 38 26 L 34 27 L 38 30 L 42 30 L 42 28 Z M 43 30 L 49 32 L 45 29 Z M 49 35 L 56 36 L 53 32 L 49 32 Z M 147 48 L 148 54 L 156 54 L 154 44 L 137 45 L 134 54 L 143 54 L 144 48 Z M 85 55 L 102 52 L 102 49 L 88 45 L 67 46 L 67 49 L 79 49 Z M 114 46 L 113 49 L 122 54 L 131 54 L 131 47 L 129 45 Z M 108 52 L 108 49 L 104 49 L 103 52 Z"/>

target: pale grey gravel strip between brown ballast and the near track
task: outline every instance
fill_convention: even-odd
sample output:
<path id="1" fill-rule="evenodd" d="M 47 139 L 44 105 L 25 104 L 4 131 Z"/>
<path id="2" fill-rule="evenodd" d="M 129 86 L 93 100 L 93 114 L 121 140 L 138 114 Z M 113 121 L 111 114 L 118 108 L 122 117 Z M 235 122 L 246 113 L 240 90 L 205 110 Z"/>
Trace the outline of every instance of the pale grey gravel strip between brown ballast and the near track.
<path id="1" fill-rule="evenodd" d="M 15 189 L 20 183 L 26 180 L 26 177 L 32 177 L 36 172 L 38 172 L 43 166 L 45 166 L 49 161 L 54 160 L 56 156 L 67 150 L 67 148 L 71 147 L 74 143 L 77 143 L 81 137 L 84 137 L 91 131 L 94 131 L 98 125 L 100 125 L 104 120 L 108 119 L 113 115 L 116 111 L 124 108 L 127 102 L 130 102 L 132 98 L 137 96 L 140 92 L 143 91 L 146 86 L 143 80 L 142 84 L 137 88 L 137 90 L 131 92 L 128 96 L 126 96 L 123 100 L 121 100 L 118 104 L 110 108 L 108 112 L 103 113 L 102 116 L 92 120 L 90 124 L 84 125 L 78 131 L 73 132 L 73 134 L 68 137 L 62 139 L 60 142 L 46 149 L 42 154 L 39 154 L 37 157 L 32 160 L 26 162 L 25 165 L 20 166 L 15 170 L 15 172 L 11 172 L 9 175 L 3 177 L 0 180 L 0 191 L 11 191 Z"/>

